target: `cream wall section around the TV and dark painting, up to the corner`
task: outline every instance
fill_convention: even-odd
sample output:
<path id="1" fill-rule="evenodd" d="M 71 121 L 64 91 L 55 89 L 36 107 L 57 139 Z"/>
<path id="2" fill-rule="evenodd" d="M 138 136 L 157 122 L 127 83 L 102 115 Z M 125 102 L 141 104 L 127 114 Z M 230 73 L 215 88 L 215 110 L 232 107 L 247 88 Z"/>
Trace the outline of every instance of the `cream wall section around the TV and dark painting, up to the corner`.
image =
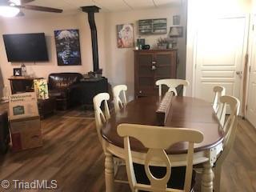
<path id="1" fill-rule="evenodd" d="M 98 36 L 104 34 L 104 25 L 102 19 L 104 14 L 95 16 L 98 26 Z M 19 33 L 40 33 L 46 34 L 46 44 L 49 54 L 49 62 L 26 62 L 28 74 L 34 74 L 37 77 L 47 78 L 50 73 L 58 72 L 80 72 L 82 74 L 93 70 L 90 26 L 87 15 L 84 13 L 69 16 L 56 16 L 54 18 L 5 18 L 2 19 L 0 26 L 0 35 L 2 34 L 19 34 Z M 58 66 L 56 57 L 56 48 L 54 41 L 54 30 L 78 29 L 80 33 L 80 49 L 82 56 L 82 66 Z M 104 41 L 99 38 L 99 59 L 104 60 Z M 5 85 L 9 82 L 7 78 L 13 75 L 13 68 L 21 65 L 18 63 L 7 62 L 6 50 L 3 39 L 0 38 L 0 67 L 2 78 Z"/>

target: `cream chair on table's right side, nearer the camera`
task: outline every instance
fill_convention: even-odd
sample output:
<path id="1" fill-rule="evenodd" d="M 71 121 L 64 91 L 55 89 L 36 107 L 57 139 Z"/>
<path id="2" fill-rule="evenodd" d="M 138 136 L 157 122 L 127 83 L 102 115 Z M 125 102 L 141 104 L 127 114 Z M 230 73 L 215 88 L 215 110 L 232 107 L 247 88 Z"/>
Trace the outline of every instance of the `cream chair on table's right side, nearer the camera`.
<path id="1" fill-rule="evenodd" d="M 223 150 L 218 156 L 215 162 L 214 168 L 214 192 L 220 192 L 220 182 L 222 174 L 222 163 L 226 159 L 226 156 L 230 153 L 231 148 L 234 144 L 234 138 L 236 135 L 237 125 L 238 125 L 238 113 L 240 102 L 238 98 L 233 96 L 222 96 L 220 97 L 220 102 L 222 105 L 222 110 L 226 108 L 226 105 L 230 106 L 230 116 L 227 118 L 223 128 L 224 140 L 223 140 Z M 225 104 L 225 105 L 224 105 Z"/>

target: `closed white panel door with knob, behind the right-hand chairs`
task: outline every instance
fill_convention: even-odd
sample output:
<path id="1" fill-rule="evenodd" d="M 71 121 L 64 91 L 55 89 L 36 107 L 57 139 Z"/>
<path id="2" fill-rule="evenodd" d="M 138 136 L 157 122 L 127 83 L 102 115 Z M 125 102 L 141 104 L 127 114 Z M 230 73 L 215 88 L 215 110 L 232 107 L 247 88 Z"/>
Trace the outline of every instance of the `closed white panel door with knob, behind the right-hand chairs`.
<path id="1" fill-rule="evenodd" d="M 246 16 L 218 18 L 198 29 L 194 96 L 213 102 L 213 87 L 240 98 L 246 49 Z"/>

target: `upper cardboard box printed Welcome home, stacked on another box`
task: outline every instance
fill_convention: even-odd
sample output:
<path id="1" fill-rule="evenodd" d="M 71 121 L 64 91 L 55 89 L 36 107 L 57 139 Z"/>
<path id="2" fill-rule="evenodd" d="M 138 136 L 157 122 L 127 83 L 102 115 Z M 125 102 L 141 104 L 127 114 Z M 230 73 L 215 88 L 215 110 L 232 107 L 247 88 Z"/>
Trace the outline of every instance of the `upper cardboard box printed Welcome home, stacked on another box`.
<path id="1" fill-rule="evenodd" d="M 34 92 L 12 94 L 9 98 L 10 119 L 38 116 L 38 100 Z"/>

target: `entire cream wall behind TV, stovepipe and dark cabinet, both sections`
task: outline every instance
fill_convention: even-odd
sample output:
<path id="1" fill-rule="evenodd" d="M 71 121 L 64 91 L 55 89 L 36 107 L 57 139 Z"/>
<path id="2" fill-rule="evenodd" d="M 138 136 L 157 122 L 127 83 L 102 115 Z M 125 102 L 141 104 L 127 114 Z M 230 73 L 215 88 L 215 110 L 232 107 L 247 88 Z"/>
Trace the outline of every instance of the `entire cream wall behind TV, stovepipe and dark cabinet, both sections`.
<path id="1" fill-rule="evenodd" d="M 134 23 L 134 42 L 138 38 L 137 22 L 146 18 L 167 18 L 168 32 L 172 25 L 172 16 L 182 14 L 181 7 L 158 8 L 152 10 L 133 10 L 115 13 L 95 14 L 95 22 L 98 30 L 98 53 L 99 67 L 103 69 L 103 75 L 109 79 L 114 86 L 125 83 L 129 87 L 129 99 L 134 96 L 134 48 L 118 49 L 116 25 Z M 186 18 L 181 15 L 181 26 L 186 26 Z M 58 66 L 54 41 L 54 30 L 79 29 L 80 46 L 82 54 L 82 66 Z M 178 49 L 180 63 L 178 65 L 178 77 L 185 77 L 185 31 L 183 38 L 178 38 Z M 49 62 L 25 63 L 28 74 L 37 77 L 47 78 L 50 73 L 58 72 L 80 72 L 82 74 L 93 70 L 92 50 L 90 40 L 90 26 L 87 14 L 56 16 L 54 18 L 0 18 L 0 36 L 2 34 L 19 33 L 40 33 L 46 34 L 46 43 L 49 52 Z M 146 44 L 153 46 L 159 37 L 164 35 L 143 35 Z M 5 85 L 9 85 L 7 80 L 13 75 L 13 68 L 19 67 L 21 63 L 7 62 L 6 50 L 2 38 L 0 38 L 0 67 Z M 1 77 L 0 77 L 1 78 Z M 0 85 L 1 86 L 1 85 Z"/>

